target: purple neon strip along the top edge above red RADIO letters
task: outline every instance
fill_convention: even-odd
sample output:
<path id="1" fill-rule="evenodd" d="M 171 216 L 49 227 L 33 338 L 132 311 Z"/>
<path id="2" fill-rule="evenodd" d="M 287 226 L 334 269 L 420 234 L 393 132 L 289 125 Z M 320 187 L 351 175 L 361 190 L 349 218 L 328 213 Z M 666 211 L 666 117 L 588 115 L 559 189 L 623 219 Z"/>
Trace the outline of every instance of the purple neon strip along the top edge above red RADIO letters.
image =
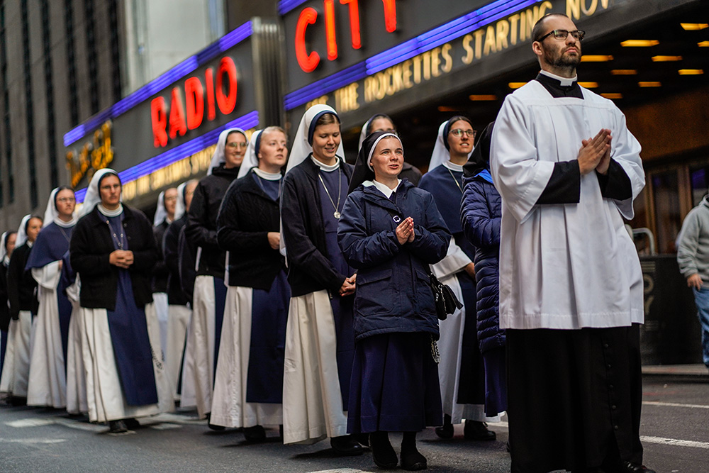
<path id="1" fill-rule="evenodd" d="M 253 28 L 251 21 L 247 21 L 242 26 L 231 30 L 229 33 L 219 38 L 216 43 L 207 46 L 196 55 L 188 57 L 177 66 L 162 74 L 160 77 L 148 82 L 132 94 L 123 97 L 123 99 L 117 101 L 116 104 L 113 104 L 104 111 L 99 112 L 79 126 L 72 128 L 72 130 L 67 131 L 64 135 L 64 145 L 69 146 L 75 141 L 83 138 L 86 136 L 88 131 L 96 130 L 96 128 L 99 128 L 101 123 L 104 123 L 104 121 L 121 116 L 125 113 L 125 111 L 128 111 L 130 108 L 133 108 L 141 102 L 149 99 L 151 96 L 169 86 L 169 84 L 173 84 L 174 82 L 179 81 L 179 79 L 185 77 L 187 74 L 194 72 L 195 69 L 212 60 L 214 57 L 219 55 L 220 52 L 224 52 L 246 38 L 249 38 L 252 33 Z"/>

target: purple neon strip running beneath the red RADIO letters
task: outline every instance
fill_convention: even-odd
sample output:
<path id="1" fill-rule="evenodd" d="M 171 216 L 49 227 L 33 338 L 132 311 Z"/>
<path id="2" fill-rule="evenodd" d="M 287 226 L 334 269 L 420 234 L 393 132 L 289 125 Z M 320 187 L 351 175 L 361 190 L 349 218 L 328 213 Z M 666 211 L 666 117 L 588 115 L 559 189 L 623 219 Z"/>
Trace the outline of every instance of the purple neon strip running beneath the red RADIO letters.
<path id="1" fill-rule="evenodd" d="M 259 113 L 258 111 L 252 111 L 244 116 L 240 116 L 223 126 L 210 130 L 197 138 L 189 140 L 186 143 L 182 143 L 172 150 L 165 151 L 160 155 L 151 157 L 138 165 L 129 167 L 125 171 L 118 173 L 118 177 L 121 178 L 123 184 L 135 181 L 140 177 L 146 176 L 151 172 L 157 171 L 157 169 L 162 169 L 163 167 L 172 165 L 172 163 L 182 160 L 184 157 L 194 155 L 194 153 L 199 152 L 209 146 L 213 145 L 217 138 L 219 138 L 219 133 L 227 128 L 242 128 L 248 130 L 249 128 L 255 128 L 259 124 Z M 84 196 L 86 196 L 86 188 L 80 189 L 76 192 L 77 202 L 83 202 Z"/>

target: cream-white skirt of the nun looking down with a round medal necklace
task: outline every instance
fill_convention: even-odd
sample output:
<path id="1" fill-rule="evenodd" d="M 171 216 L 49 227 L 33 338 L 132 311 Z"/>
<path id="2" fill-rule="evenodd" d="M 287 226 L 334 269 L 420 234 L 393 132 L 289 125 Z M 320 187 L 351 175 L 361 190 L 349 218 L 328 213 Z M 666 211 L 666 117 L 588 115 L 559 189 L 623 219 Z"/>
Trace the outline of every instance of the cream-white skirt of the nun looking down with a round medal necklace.
<path id="1" fill-rule="evenodd" d="M 347 435 L 328 291 L 291 298 L 283 376 L 283 443 Z"/>

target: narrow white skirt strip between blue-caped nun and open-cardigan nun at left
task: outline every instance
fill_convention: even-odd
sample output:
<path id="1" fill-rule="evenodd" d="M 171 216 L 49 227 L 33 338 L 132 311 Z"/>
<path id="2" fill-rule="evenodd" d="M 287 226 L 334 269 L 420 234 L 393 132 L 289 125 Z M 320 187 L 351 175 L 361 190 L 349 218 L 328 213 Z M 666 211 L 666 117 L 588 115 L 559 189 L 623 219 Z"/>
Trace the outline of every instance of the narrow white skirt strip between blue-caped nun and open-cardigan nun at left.
<path id="1" fill-rule="evenodd" d="M 84 318 L 79 303 L 72 300 L 72 318 L 69 321 L 69 342 L 67 344 L 67 412 L 88 413 L 86 401 L 86 370 L 82 340 L 84 340 Z"/>

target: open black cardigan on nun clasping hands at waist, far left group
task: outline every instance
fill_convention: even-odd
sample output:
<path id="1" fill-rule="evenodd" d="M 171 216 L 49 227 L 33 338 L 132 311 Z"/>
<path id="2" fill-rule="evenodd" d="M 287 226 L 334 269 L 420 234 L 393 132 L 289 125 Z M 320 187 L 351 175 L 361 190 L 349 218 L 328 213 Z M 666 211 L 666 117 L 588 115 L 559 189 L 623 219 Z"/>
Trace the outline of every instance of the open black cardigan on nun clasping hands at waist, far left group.
<path id="1" fill-rule="evenodd" d="M 108 262 L 115 250 L 111 230 L 99 206 L 77 222 L 69 245 L 72 269 L 79 273 L 82 289 L 80 304 L 86 308 L 116 308 L 118 267 Z M 152 226 L 143 212 L 123 206 L 123 229 L 128 250 L 133 252 L 133 265 L 128 272 L 133 283 L 133 297 L 138 307 L 152 302 L 150 278 L 157 262 L 157 247 Z"/>

